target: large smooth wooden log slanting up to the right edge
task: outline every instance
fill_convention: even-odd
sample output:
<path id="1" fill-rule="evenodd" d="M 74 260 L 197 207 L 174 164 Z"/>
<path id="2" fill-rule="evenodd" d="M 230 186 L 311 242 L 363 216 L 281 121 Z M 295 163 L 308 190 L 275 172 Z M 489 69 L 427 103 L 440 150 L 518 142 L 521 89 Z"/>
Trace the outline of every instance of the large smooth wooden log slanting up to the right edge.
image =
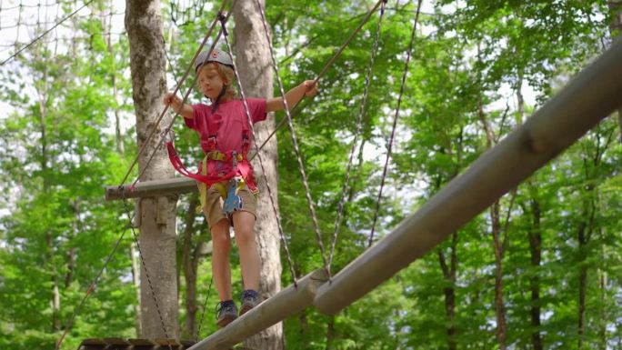
<path id="1" fill-rule="evenodd" d="M 487 151 L 391 234 L 322 285 L 316 308 L 334 315 L 425 255 L 622 105 L 622 40 L 527 122 Z"/>

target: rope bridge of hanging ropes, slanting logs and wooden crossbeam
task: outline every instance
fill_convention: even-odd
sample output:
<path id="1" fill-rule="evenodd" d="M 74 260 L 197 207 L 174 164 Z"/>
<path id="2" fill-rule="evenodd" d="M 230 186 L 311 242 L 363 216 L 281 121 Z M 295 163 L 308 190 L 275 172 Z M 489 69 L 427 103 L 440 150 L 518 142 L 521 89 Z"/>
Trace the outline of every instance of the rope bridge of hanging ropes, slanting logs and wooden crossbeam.
<path id="1" fill-rule="evenodd" d="M 213 50 L 221 35 L 224 35 L 229 53 L 231 52 L 226 32 L 228 14 L 224 15 L 224 9 L 226 8 L 227 3 L 228 0 L 223 1 L 223 4 L 218 11 L 219 15 L 214 19 L 206 38 L 196 50 L 196 54 L 190 65 L 188 65 L 185 75 L 176 86 L 174 94 L 176 94 L 186 77 L 189 75 L 190 68 L 193 66 L 196 56 L 202 51 L 204 45 L 206 45 L 206 41 L 209 37 L 211 37 L 216 25 L 220 24 L 221 28 L 216 35 L 216 40 L 213 41 L 213 44 L 209 50 Z M 235 3 L 236 0 L 233 0 L 233 4 L 231 6 L 234 6 Z M 365 111 L 366 95 L 368 92 L 368 85 L 371 80 L 370 76 L 372 75 L 378 35 L 380 32 L 380 25 L 382 22 L 382 15 L 384 14 L 385 4 L 386 0 L 380 0 L 376 3 L 376 6 L 368 12 L 365 19 L 361 22 L 358 28 L 356 28 L 356 31 L 350 35 L 350 37 L 346 40 L 346 43 L 340 47 L 337 54 L 333 56 L 333 58 L 315 79 L 317 82 L 321 76 L 326 73 L 326 69 L 328 69 L 328 67 L 335 62 L 336 58 L 343 52 L 360 28 L 365 25 L 370 16 L 375 13 L 378 8 L 380 8 L 381 16 L 376 28 L 374 47 L 371 52 L 371 59 L 366 75 L 365 93 L 362 98 L 359 114 L 357 115 L 356 135 L 360 131 L 360 118 Z M 266 38 L 268 39 L 268 43 L 271 43 L 267 30 L 266 15 L 259 2 L 257 2 L 257 5 L 266 30 Z M 192 345 L 192 343 L 178 343 L 175 339 L 168 339 L 169 337 L 166 335 L 166 327 L 164 326 L 164 322 L 162 322 L 166 339 L 161 339 L 159 341 L 123 340 L 115 338 L 109 338 L 107 340 L 90 339 L 83 342 L 81 349 L 87 350 L 103 348 L 103 346 L 105 347 L 109 345 L 113 345 L 115 348 L 123 348 L 123 346 L 141 348 L 142 346 L 142 348 L 168 348 L 171 350 L 173 348 L 188 348 L 191 350 L 222 349 L 236 345 L 248 336 L 255 335 L 257 332 L 265 329 L 266 327 L 275 325 L 276 323 L 284 320 L 287 316 L 295 315 L 297 312 L 308 306 L 314 306 L 318 311 L 326 315 L 335 315 L 347 305 L 354 303 L 356 300 L 376 288 L 376 286 L 391 278 L 398 271 L 415 261 L 418 257 L 425 255 L 436 245 L 440 244 L 446 236 L 451 235 L 461 226 L 466 225 L 471 219 L 487 208 L 487 206 L 491 205 L 499 197 L 519 185 L 538 168 L 546 165 L 548 161 L 576 142 L 579 137 L 597 125 L 601 119 L 607 117 L 607 115 L 622 106 L 622 65 L 619 64 L 622 62 L 622 41 L 618 40 L 609 50 L 607 50 L 607 52 L 593 62 L 592 65 L 589 65 L 579 75 L 577 75 L 577 77 L 560 93 L 549 100 L 546 105 L 543 105 L 531 118 L 527 120 L 524 125 L 517 127 L 516 130 L 507 135 L 506 139 L 498 143 L 486 154 L 481 155 L 479 159 L 477 159 L 477 161 L 474 162 L 462 175 L 459 175 L 452 180 L 448 185 L 446 185 L 445 188 L 428 200 L 426 204 L 423 205 L 416 213 L 407 217 L 396 227 L 395 230 L 393 230 L 393 232 L 379 240 L 376 245 L 371 246 L 376 225 L 378 203 L 382 195 L 382 187 L 384 186 L 388 158 L 391 154 L 393 135 L 395 134 L 396 121 L 399 115 L 399 103 L 404 91 L 408 62 L 413 48 L 416 33 L 416 22 L 420 7 L 421 0 L 418 2 L 416 19 L 413 25 L 410 45 L 407 50 L 404 75 L 402 76 L 402 86 L 396 107 L 392 135 L 387 150 L 386 164 L 383 171 L 383 181 L 378 193 L 374 225 L 371 229 L 369 237 L 370 247 L 366 250 L 366 252 L 359 255 L 353 262 L 346 265 L 346 267 L 339 271 L 336 275 L 331 274 L 330 264 L 332 262 L 332 255 L 335 249 L 336 237 L 338 234 L 338 227 L 340 225 L 344 203 L 341 202 L 339 204 L 338 213 L 336 215 L 335 235 L 333 236 L 330 252 L 326 253 L 316 222 L 313 199 L 311 198 L 308 185 L 306 184 L 306 174 L 302 164 L 302 157 L 297 147 L 296 135 L 294 134 L 294 128 L 292 125 L 292 114 L 289 106 L 286 105 L 283 84 L 280 76 L 278 75 L 278 68 L 276 66 L 274 48 L 271 46 L 270 53 L 273 61 L 273 68 L 276 71 L 277 83 L 283 97 L 284 105 L 286 105 L 286 116 L 281 120 L 276 128 L 287 123 L 290 129 L 301 177 L 306 189 L 309 212 L 314 220 L 316 238 L 322 251 L 321 253 L 324 260 L 323 268 L 319 268 L 301 278 L 297 278 L 296 275 L 292 273 L 292 285 L 281 290 L 278 294 L 264 301 L 260 305 L 257 305 L 254 309 L 237 318 L 225 328 L 220 329 L 213 335 L 208 336 L 194 345 Z M 237 82 L 240 84 L 239 78 L 237 79 Z M 192 86 L 194 86 L 195 83 L 196 79 L 191 84 L 191 87 L 188 88 L 186 95 L 184 95 L 184 102 L 186 101 L 187 96 L 190 94 Z M 246 99 L 242 86 L 238 87 L 242 97 Z M 291 109 L 293 110 L 295 108 L 296 106 Z M 106 199 L 123 199 L 127 219 L 130 223 L 132 221 L 132 215 L 130 215 L 129 205 L 127 204 L 128 198 L 166 195 L 171 193 L 181 194 L 196 191 L 196 182 L 191 179 L 167 179 L 140 183 L 138 179 L 141 178 L 145 172 L 145 169 L 142 169 L 131 185 L 124 185 L 128 176 L 131 174 L 132 169 L 136 165 L 139 156 L 145 152 L 145 145 L 149 144 L 149 140 L 156 134 L 157 126 L 160 124 L 163 116 L 165 115 L 166 109 L 167 107 L 157 119 L 156 125 L 154 125 L 151 134 L 147 137 L 145 142 L 143 142 L 143 146 L 138 151 L 138 155 L 136 155 L 134 163 L 130 165 L 130 169 L 127 171 L 122 184 L 117 186 L 108 186 L 105 190 Z M 171 127 L 175 122 L 175 118 L 176 115 L 170 124 L 165 128 L 165 133 L 163 133 L 158 146 L 148 158 L 147 165 L 156 154 L 157 149 L 165 143 L 166 135 L 171 130 Z M 274 134 L 275 133 L 273 132 L 272 135 Z M 268 138 L 272 135 L 268 136 Z M 264 145 L 266 142 L 267 140 L 264 142 Z M 356 138 L 353 142 L 353 152 L 355 144 Z M 259 151 L 263 145 L 255 145 L 255 147 L 256 155 L 259 155 Z M 260 164 L 262 163 L 260 155 L 259 162 Z M 347 190 L 351 163 L 352 154 L 350 155 L 350 163 L 347 165 L 346 169 L 346 180 L 342 188 L 343 191 Z M 269 188 L 268 192 L 270 198 L 272 199 L 273 207 L 275 207 L 273 194 Z M 291 257 L 289 256 L 285 235 L 282 232 L 280 218 L 278 217 L 276 208 L 275 215 L 279 223 L 278 225 L 281 240 L 286 248 L 287 261 L 291 269 Z M 132 225 L 130 224 L 129 227 L 132 227 Z M 122 231 L 123 234 L 117 241 L 115 249 L 116 246 L 118 246 L 118 243 L 123 239 L 126 229 L 124 228 Z M 132 232 L 137 243 L 137 235 L 134 228 L 132 228 Z M 107 264 L 107 262 L 110 261 L 111 256 L 114 255 L 115 249 L 110 255 L 108 255 L 108 259 L 105 264 Z M 140 255 L 142 259 L 142 253 L 140 253 Z M 144 263 L 143 266 L 145 268 Z M 105 266 L 102 271 L 104 271 L 104 269 Z M 145 275 L 147 281 L 151 284 L 146 268 Z M 78 310 L 82 305 L 84 305 L 85 299 L 95 289 L 95 285 L 97 284 L 100 276 L 101 274 L 97 275 L 94 282 L 86 292 L 81 304 L 76 307 L 75 314 L 72 315 L 67 326 L 65 327 L 65 335 L 71 328 Z M 156 296 L 153 292 L 152 296 L 155 298 L 157 306 Z M 63 335 L 58 341 L 56 346 L 57 348 L 59 348 L 62 344 L 65 335 Z"/>

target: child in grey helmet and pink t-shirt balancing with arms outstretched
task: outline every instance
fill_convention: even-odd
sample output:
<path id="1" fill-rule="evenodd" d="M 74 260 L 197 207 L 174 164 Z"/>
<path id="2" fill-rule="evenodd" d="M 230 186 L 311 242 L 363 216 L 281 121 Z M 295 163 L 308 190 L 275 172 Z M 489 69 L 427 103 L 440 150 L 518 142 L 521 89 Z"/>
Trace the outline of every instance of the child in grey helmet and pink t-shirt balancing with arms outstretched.
<path id="1" fill-rule="evenodd" d="M 239 315 L 259 304 L 259 272 L 261 261 L 257 251 L 254 225 L 256 221 L 256 193 L 253 168 L 246 155 L 253 143 L 253 133 L 243 101 L 235 98 L 234 70 L 231 57 L 214 50 L 209 55 L 201 53 L 196 58 L 196 75 L 201 92 L 211 105 L 182 105 L 176 95 L 167 93 L 165 105 L 170 105 L 184 117 L 186 125 L 200 135 L 206 158 L 200 166 L 204 175 L 222 176 L 209 188 L 201 191 L 201 204 L 212 234 L 212 273 L 220 303 L 216 309 L 216 323 L 224 327 L 237 317 L 236 304 L 231 294 L 229 251 L 231 239 L 229 225 L 233 225 L 239 248 L 244 293 Z M 304 96 L 317 93 L 313 80 L 306 80 L 286 94 L 287 105 L 292 108 Z M 285 108 L 281 97 L 247 98 L 253 123 L 266 120 L 266 114 Z M 235 177 L 229 179 L 235 175 Z M 225 209 L 225 210 L 224 210 Z"/>

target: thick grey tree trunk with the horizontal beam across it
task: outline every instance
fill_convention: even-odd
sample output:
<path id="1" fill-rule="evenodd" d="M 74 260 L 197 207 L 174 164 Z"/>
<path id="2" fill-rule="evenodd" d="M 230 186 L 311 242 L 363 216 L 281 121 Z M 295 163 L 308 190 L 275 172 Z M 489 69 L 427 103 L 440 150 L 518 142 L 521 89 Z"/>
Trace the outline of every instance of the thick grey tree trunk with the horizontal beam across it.
<path id="1" fill-rule="evenodd" d="M 161 130 L 170 122 L 166 116 L 160 125 L 156 118 L 164 106 L 166 93 L 164 37 L 159 0 L 127 0 L 125 29 L 130 44 L 130 68 L 136 114 L 138 146 L 145 143 L 153 127 L 157 128 L 139 169 L 146 168 L 141 181 L 170 178 L 174 169 L 163 148 L 156 149 Z M 147 166 L 152 152 L 156 156 Z M 141 328 L 144 338 L 177 337 L 178 305 L 176 284 L 176 198 L 146 197 L 140 201 Z"/>

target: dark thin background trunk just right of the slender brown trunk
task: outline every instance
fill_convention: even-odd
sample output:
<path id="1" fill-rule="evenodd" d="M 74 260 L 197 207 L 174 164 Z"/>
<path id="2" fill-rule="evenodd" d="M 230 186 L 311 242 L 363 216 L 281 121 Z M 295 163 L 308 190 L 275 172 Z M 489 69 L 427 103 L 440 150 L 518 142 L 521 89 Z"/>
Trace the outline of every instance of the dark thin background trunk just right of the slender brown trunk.
<path id="1" fill-rule="evenodd" d="M 540 261 L 542 260 L 542 228 L 540 221 L 542 213 L 540 203 L 534 195 L 531 199 L 532 229 L 529 231 L 529 252 L 531 254 L 531 268 L 535 270 L 529 279 L 531 289 L 531 345 L 534 350 L 542 350 L 542 336 L 540 335 Z"/>

